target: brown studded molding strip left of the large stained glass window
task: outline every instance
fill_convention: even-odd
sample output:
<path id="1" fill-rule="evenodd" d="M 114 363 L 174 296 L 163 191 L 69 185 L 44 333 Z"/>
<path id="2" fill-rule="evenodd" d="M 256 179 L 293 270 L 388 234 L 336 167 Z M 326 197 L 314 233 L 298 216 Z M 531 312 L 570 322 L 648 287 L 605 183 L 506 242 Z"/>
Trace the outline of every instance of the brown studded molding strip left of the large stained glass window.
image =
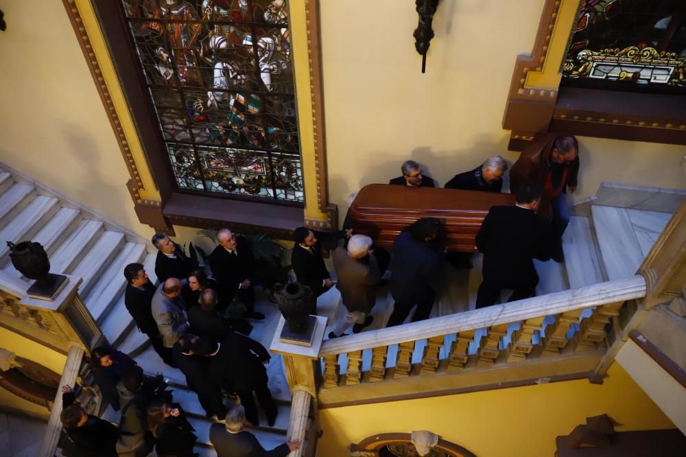
<path id="1" fill-rule="evenodd" d="M 81 50 L 86 58 L 86 64 L 88 65 L 88 70 L 91 71 L 93 76 L 93 82 L 95 82 L 95 88 L 102 101 L 102 106 L 105 108 L 105 113 L 110 121 L 112 130 L 117 139 L 117 144 L 119 145 L 119 150 L 123 156 L 124 162 L 126 163 L 126 169 L 128 169 L 131 180 L 127 183 L 127 187 L 131 198 L 137 206 L 153 207 L 159 208 L 161 202 L 156 200 L 145 200 L 141 198 L 141 189 L 144 188 L 143 180 L 141 180 L 141 174 L 139 172 L 136 161 L 134 161 L 133 155 L 128 145 L 126 135 L 124 134 L 123 128 L 121 127 L 121 121 L 119 121 L 119 115 L 117 115 L 117 110 L 115 110 L 115 105 L 113 103 L 112 97 L 110 96 L 110 90 L 107 87 L 105 78 L 102 75 L 102 70 L 93 51 L 93 45 L 91 44 L 91 39 L 88 37 L 88 32 L 86 32 L 86 27 L 84 26 L 81 14 L 78 10 L 75 0 L 62 0 L 64 3 L 64 9 L 67 10 L 67 16 L 69 16 L 69 21 L 73 27 L 76 39 L 79 42 Z"/>

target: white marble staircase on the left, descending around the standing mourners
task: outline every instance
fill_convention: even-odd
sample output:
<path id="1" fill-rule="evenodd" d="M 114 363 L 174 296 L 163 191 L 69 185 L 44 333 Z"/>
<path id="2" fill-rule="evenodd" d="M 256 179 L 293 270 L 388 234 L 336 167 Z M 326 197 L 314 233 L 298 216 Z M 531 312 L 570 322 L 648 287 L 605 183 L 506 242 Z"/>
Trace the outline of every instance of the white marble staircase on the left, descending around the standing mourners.
<path id="1" fill-rule="evenodd" d="M 204 416 L 195 393 L 185 386 L 182 373 L 163 364 L 124 306 L 126 264 L 143 263 L 150 280 L 156 283 L 156 250 L 150 243 L 0 163 L 0 242 L 3 245 L 0 268 L 4 272 L 21 277 L 10 262 L 5 241 L 18 243 L 29 239 L 43 245 L 50 257 L 51 272 L 83 278 L 79 293 L 108 342 L 134 357 L 147 373 L 163 373 L 169 379 L 174 400 L 181 403 L 196 427 L 197 452 L 215 455 L 209 443 L 209 427 L 213 421 Z M 261 295 L 257 309 L 268 318 L 255 323 L 251 336 L 269 347 L 280 314 Z M 268 373 L 279 416 L 274 427 L 268 427 L 266 419 L 261 417 L 261 425 L 252 427 L 251 432 L 271 449 L 285 441 L 291 398 L 280 355 L 274 355 Z M 119 422 L 119 413 L 111 408 L 104 416 Z"/>

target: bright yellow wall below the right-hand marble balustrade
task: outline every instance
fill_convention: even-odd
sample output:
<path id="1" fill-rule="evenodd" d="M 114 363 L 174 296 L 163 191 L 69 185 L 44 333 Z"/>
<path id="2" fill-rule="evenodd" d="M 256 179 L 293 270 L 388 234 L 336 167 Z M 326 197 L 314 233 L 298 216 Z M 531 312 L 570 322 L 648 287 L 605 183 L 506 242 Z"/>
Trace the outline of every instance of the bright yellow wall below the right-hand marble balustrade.
<path id="1" fill-rule="evenodd" d="M 555 437 L 608 414 L 628 430 L 674 428 L 618 364 L 604 384 L 556 382 L 320 410 L 318 457 L 346 456 L 351 443 L 381 433 L 429 430 L 481 457 L 549 457 Z"/>

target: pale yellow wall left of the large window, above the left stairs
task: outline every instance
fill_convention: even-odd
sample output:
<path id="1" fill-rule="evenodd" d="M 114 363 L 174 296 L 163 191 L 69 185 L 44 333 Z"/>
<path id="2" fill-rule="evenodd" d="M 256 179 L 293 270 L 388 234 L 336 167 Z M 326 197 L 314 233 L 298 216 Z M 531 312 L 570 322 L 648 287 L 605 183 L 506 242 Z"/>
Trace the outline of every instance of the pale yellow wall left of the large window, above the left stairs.
<path id="1" fill-rule="evenodd" d="M 0 161 L 141 235 L 129 174 L 62 1 L 6 1 Z"/>

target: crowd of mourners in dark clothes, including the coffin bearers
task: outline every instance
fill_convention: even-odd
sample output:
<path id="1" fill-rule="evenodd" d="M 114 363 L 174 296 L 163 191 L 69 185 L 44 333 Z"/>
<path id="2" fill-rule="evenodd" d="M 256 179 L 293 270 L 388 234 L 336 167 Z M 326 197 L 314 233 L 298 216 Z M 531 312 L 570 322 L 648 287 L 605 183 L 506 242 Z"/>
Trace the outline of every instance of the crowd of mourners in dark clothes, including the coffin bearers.
<path id="1" fill-rule="evenodd" d="M 434 187 L 418 163 L 407 161 L 401 169 L 403 176 L 390 180 L 391 185 Z M 576 189 L 578 169 L 574 137 L 552 134 L 521 153 L 510 169 L 516 204 L 492 207 L 476 237 L 484 254 L 477 308 L 495 304 L 504 289 L 513 291 L 509 301 L 534 295 L 539 278 L 533 259 L 563 261 L 561 238 L 569 222 L 565 194 Z M 491 157 L 445 187 L 500 192 L 507 170 L 501 156 Z M 351 327 L 357 333 L 372 323 L 370 311 L 382 283 L 390 282 L 394 299 L 387 324 L 391 327 L 402 324 L 415 306 L 413 321 L 429 317 L 436 279 L 446 261 L 471 268 L 469 253 L 445 252 L 441 220 L 416 220 L 400 233 L 390 253 L 375 247 L 370 237 L 353 233 L 350 225 L 346 218 L 342 231 L 294 231 L 292 267 L 297 281 L 312 292 L 311 314 L 317 313 L 316 298 L 333 287 L 340 290 L 346 308 L 329 338 L 343 336 Z M 335 281 L 324 263 L 322 242 L 340 244 L 333 248 Z M 167 235 L 156 233 L 152 243 L 158 249 L 159 285 L 150 281 L 141 263 L 130 263 L 123 271 L 126 308 L 165 364 L 184 373 L 206 416 L 224 419 L 224 424 L 211 427 L 217 454 L 265 455 L 255 436 L 243 430 L 246 420 L 259 425 L 253 394 L 269 425 L 278 414 L 265 368 L 270 354 L 250 338 L 250 320 L 265 317 L 255 310 L 256 262 L 250 243 L 221 229 L 202 268 Z M 383 279 L 386 270 L 390 281 Z M 91 360 L 104 401 L 121 412 L 121 422 L 115 427 L 89 416 L 74 403 L 73 390 L 64 388 L 62 423 L 82 455 L 145 456 L 153 447 L 158 456 L 193 455 L 193 427 L 161 375 L 144 375 L 134 360 L 106 347 L 93 350 Z M 226 397 L 237 404 L 227 408 Z M 299 446 L 287 441 L 269 455 L 285 456 Z"/>

